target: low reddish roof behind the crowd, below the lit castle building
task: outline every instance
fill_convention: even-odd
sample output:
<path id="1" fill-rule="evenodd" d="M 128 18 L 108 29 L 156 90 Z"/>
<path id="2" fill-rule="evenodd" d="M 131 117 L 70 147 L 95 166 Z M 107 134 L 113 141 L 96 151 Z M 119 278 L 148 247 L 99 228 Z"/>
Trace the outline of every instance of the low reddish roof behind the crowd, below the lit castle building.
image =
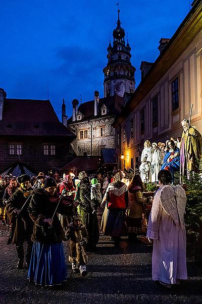
<path id="1" fill-rule="evenodd" d="M 61 171 L 92 171 L 96 170 L 100 165 L 99 157 L 78 156 L 72 162 L 67 164 Z"/>

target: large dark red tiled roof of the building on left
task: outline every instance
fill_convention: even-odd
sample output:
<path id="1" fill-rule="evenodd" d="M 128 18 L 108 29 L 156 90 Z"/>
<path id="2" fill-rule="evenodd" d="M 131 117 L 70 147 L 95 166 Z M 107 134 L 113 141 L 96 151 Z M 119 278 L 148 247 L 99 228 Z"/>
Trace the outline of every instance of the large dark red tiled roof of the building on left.
<path id="1" fill-rule="evenodd" d="M 74 136 L 49 100 L 5 99 L 0 135 Z"/>

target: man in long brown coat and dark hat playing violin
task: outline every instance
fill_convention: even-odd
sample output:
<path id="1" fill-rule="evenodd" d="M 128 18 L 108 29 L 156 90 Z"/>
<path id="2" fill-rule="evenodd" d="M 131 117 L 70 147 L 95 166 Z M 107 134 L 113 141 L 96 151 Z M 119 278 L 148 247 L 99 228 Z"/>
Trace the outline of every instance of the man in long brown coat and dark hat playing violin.
<path id="1" fill-rule="evenodd" d="M 31 199 L 29 194 L 32 191 L 30 179 L 31 177 L 27 174 L 23 174 L 17 178 L 20 187 L 8 199 L 6 205 L 7 214 L 11 221 L 11 232 L 7 244 L 16 245 L 18 255 L 17 268 L 19 269 L 22 269 L 24 264 L 24 242 L 27 242 L 26 267 L 29 265 L 32 250 L 31 234 L 33 231 L 33 221 L 27 211 Z"/>

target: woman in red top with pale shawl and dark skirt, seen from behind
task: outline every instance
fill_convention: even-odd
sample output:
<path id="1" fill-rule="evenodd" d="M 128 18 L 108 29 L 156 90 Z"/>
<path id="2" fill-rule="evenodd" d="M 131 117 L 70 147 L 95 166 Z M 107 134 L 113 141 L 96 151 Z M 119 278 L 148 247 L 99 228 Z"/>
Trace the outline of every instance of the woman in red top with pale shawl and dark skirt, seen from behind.
<path id="1" fill-rule="evenodd" d="M 106 236 L 113 238 L 116 246 L 119 245 L 124 228 L 126 230 L 125 211 L 128 207 L 128 187 L 121 181 L 122 178 L 122 173 L 115 174 L 102 202 L 102 206 L 105 204 L 106 210 L 103 213 L 101 229 Z"/>

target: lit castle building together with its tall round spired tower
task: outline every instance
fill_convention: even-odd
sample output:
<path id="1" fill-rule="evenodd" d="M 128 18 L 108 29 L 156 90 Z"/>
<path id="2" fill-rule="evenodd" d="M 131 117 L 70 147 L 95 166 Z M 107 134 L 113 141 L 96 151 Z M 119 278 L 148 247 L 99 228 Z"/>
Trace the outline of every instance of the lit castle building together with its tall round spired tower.
<path id="1" fill-rule="evenodd" d="M 113 46 L 108 47 L 108 64 L 104 68 L 104 98 L 94 92 L 94 100 L 79 105 L 72 101 L 72 117 L 67 121 L 65 105 L 62 106 L 63 124 L 71 128 L 76 138 L 72 147 L 77 156 L 100 156 L 102 148 L 115 148 L 115 118 L 125 106 L 135 89 L 135 67 L 130 62 L 131 48 L 125 43 L 118 10 L 117 27 L 113 31 Z"/>

